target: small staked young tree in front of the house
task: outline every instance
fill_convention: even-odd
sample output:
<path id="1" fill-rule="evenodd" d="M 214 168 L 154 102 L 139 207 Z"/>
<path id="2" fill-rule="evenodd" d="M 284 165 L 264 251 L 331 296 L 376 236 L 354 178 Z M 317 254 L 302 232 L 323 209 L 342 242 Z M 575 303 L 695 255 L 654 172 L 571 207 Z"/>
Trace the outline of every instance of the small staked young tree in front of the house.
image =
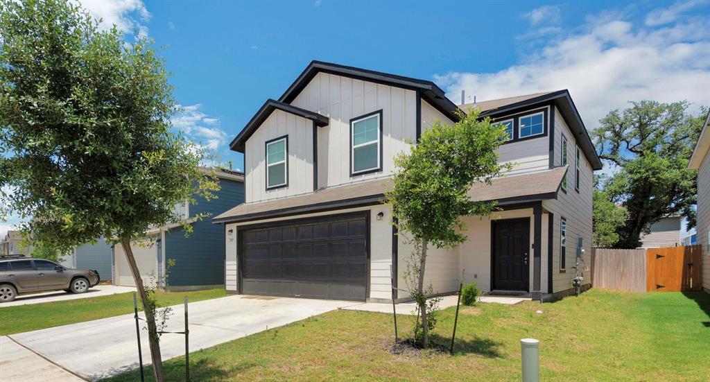
<path id="1" fill-rule="evenodd" d="M 420 308 L 422 346 L 428 346 L 429 324 L 424 289 L 427 249 L 455 248 L 466 241 L 461 217 L 487 215 L 493 202 L 474 202 L 468 195 L 476 182 L 491 182 L 506 165 L 498 164 L 496 149 L 506 138 L 501 126 L 479 111 L 461 114 L 461 121 L 446 125 L 435 122 L 409 153 L 395 157 L 394 188 L 387 194 L 393 206 L 393 221 L 401 234 L 415 243 L 418 264 L 417 290 L 412 297 Z"/>

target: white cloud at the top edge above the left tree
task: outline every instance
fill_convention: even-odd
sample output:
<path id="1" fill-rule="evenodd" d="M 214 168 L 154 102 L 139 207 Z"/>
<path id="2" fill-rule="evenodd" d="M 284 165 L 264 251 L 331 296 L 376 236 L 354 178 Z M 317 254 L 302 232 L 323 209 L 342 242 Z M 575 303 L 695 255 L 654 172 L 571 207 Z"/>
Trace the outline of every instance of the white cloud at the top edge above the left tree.
<path id="1" fill-rule="evenodd" d="M 147 36 L 148 27 L 144 25 L 151 18 L 146 4 L 141 0 L 75 0 L 78 1 L 91 16 L 102 19 L 101 28 L 110 29 L 116 25 L 119 31 Z"/>

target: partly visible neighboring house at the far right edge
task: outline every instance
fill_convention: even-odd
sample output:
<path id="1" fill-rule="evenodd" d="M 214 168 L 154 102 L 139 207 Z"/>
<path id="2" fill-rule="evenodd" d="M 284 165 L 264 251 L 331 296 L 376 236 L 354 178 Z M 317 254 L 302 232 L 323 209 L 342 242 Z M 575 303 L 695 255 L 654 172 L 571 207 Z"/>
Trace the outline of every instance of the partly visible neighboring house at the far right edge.
<path id="1" fill-rule="evenodd" d="M 703 246 L 703 288 L 710 293 L 710 114 L 690 158 L 688 168 L 698 170 L 697 231 L 698 244 Z"/>

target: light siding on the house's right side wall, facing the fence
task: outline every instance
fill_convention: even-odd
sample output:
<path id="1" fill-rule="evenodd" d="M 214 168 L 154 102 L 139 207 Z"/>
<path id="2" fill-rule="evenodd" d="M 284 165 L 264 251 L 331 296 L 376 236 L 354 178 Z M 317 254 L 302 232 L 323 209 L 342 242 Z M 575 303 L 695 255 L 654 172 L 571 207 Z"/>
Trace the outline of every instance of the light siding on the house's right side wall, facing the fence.
<path id="1" fill-rule="evenodd" d="M 545 200 L 542 207 L 555 214 L 553 222 L 552 241 L 552 290 L 561 292 L 572 288 L 572 278 L 574 278 L 574 263 L 577 256 L 577 238 L 584 238 L 584 249 L 587 266 L 591 267 L 591 233 L 592 233 L 592 192 L 594 190 L 594 172 L 586 160 L 584 153 L 580 153 L 581 160 L 579 173 L 579 193 L 574 190 L 574 148 L 577 144 L 577 136 L 572 135 L 564 121 L 562 114 L 555 109 L 555 165 L 562 163 L 561 140 L 562 133 L 567 137 L 567 192 L 560 190 L 557 200 Z M 564 217 L 567 220 L 567 246 L 565 256 L 566 271 L 559 271 L 559 220 Z M 545 257 L 545 251 L 542 256 Z M 584 273 L 584 283 L 591 281 L 591 274 Z"/>

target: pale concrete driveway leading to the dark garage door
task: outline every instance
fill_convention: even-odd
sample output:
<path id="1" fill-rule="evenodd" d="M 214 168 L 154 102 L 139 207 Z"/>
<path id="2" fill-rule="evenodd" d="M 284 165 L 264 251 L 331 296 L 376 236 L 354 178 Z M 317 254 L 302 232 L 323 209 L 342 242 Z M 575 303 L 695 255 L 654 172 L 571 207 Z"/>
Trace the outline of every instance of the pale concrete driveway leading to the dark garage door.
<path id="1" fill-rule="evenodd" d="M 190 351 L 245 337 L 307 317 L 320 315 L 358 302 L 311 300 L 301 298 L 268 298 L 234 295 L 190 304 Z M 168 331 L 185 327 L 182 305 L 173 307 Z M 133 315 L 11 334 L 16 344 L 45 359 L 36 362 L 38 370 L 58 367 L 88 380 L 97 380 L 138 367 L 136 326 Z M 143 327 L 141 322 L 141 327 Z M 141 330 L 143 362 L 149 363 L 150 351 L 146 330 Z M 0 342 L 8 339 L 0 337 Z M 163 334 L 160 339 L 163 359 L 185 354 L 185 339 L 180 334 Z M 0 380 L 4 375 L 13 381 L 28 381 L 37 370 L 27 366 L 26 357 L 12 357 L 0 349 Z M 23 374 L 24 373 L 24 374 Z M 63 377 L 62 377 L 63 376 Z M 57 374 L 54 381 L 65 381 L 68 374 Z M 52 378 L 42 378 L 44 382 Z"/>

